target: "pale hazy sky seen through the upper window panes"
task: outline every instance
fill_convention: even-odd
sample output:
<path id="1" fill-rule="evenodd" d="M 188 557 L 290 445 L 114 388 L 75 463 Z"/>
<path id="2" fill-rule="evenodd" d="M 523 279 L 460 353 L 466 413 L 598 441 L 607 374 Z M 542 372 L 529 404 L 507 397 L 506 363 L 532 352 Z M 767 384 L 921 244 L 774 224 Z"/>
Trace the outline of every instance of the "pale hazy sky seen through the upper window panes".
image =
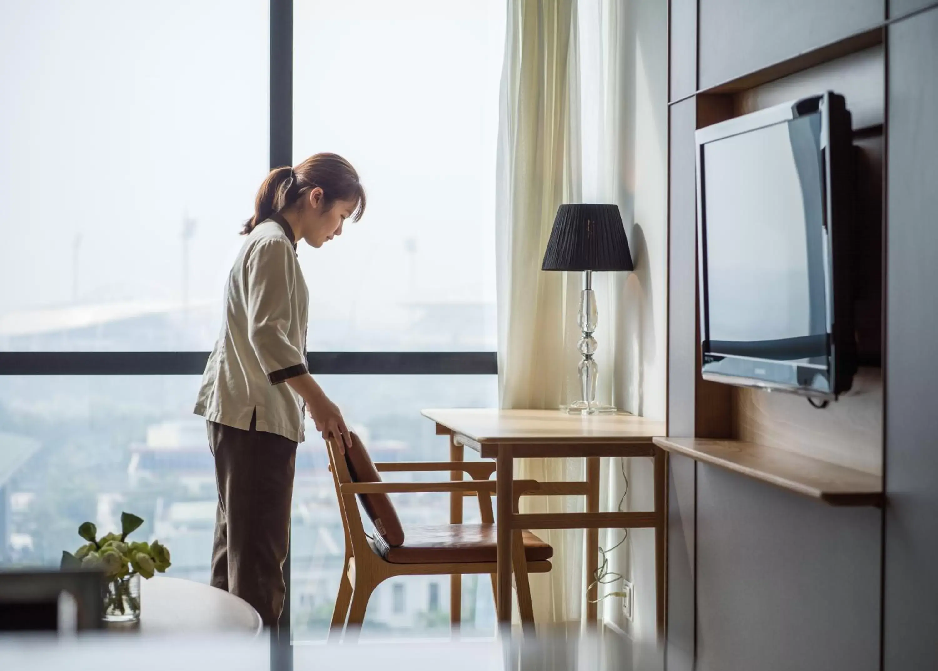
<path id="1" fill-rule="evenodd" d="M 311 310 L 388 324 L 494 302 L 504 0 L 296 0 L 294 160 L 335 151 L 365 218 L 301 248 Z M 0 2 L 0 313 L 218 301 L 267 172 L 266 0 Z M 76 252 L 77 250 L 77 252 Z M 412 250 L 409 252 L 408 250 Z"/>

